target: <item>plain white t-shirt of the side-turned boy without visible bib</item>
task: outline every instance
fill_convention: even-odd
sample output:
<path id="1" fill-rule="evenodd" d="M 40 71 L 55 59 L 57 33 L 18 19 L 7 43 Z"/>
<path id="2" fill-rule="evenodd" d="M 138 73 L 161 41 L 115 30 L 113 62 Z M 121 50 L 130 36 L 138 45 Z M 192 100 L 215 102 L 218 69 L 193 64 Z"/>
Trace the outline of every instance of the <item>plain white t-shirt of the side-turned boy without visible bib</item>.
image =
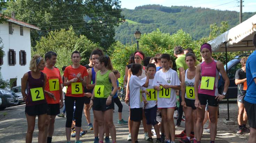
<path id="1" fill-rule="evenodd" d="M 129 81 L 130 91 L 130 108 L 142 108 L 142 102 L 140 102 L 140 89 L 145 84 L 136 75 L 131 75 Z"/>

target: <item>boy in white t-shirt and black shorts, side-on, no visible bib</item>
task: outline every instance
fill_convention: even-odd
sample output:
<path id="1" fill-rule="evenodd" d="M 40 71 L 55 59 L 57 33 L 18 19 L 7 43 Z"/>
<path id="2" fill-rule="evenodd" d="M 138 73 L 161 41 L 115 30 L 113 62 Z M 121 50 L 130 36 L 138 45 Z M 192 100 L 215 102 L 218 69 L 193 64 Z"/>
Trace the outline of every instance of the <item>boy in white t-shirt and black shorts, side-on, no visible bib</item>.
<path id="1" fill-rule="evenodd" d="M 148 87 L 149 73 L 147 73 L 146 82 L 140 80 L 138 77 L 142 74 L 142 66 L 140 64 L 133 64 L 131 66 L 132 75 L 129 81 L 130 90 L 130 119 L 131 119 L 131 137 L 132 143 L 138 143 L 138 133 L 140 122 L 142 120 L 142 102 L 140 101 L 141 87 Z M 145 91 L 147 93 L 147 91 Z M 142 93 L 142 91 L 141 91 Z M 147 93 L 148 94 L 148 93 Z M 144 104 L 147 104 L 143 98 Z"/>

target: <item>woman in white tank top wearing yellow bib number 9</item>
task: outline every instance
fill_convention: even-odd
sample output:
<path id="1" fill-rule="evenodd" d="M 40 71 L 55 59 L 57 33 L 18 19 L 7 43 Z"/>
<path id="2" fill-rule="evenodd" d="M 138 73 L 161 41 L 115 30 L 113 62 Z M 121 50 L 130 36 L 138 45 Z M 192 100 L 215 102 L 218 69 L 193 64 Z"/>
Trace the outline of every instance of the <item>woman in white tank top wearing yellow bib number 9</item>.
<path id="1" fill-rule="evenodd" d="M 181 139 L 179 141 L 180 143 L 190 143 L 191 136 L 189 134 L 191 131 L 195 131 L 197 117 L 194 90 L 196 61 L 195 54 L 193 52 L 187 53 L 185 56 L 185 61 L 188 65 L 188 69 L 181 72 L 181 105 L 183 106 L 183 110 L 186 115 L 185 128 L 187 137 Z M 196 138 L 196 134 L 194 134 L 194 138 Z"/>

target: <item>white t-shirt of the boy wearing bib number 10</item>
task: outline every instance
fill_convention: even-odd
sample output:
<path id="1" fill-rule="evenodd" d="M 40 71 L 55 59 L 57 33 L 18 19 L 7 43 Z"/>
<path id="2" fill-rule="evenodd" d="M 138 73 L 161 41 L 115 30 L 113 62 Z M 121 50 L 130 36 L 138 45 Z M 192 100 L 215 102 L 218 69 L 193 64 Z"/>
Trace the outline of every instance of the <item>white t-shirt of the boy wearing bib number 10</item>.
<path id="1" fill-rule="evenodd" d="M 176 71 L 169 69 L 167 72 L 163 70 L 157 71 L 153 81 L 153 86 L 171 85 L 180 86 L 180 80 Z M 157 108 L 172 108 L 176 107 L 176 92 L 171 88 L 170 98 L 159 98 L 159 92 L 157 92 Z"/>

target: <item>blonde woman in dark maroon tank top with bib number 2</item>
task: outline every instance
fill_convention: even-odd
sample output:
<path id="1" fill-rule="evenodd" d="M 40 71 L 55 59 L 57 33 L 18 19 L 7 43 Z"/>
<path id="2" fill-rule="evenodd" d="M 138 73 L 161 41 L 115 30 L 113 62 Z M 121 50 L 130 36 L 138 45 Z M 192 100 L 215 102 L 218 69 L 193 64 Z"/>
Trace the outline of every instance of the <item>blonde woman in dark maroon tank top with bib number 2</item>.
<path id="1" fill-rule="evenodd" d="M 44 68 L 44 58 L 34 55 L 29 66 L 31 71 L 26 72 L 21 81 L 21 93 L 26 102 L 25 114 L 28 122 L 26 143 L 32 142 L 36 116 L 38 116 L 38 143 L 43 143 L 45 138 L 45 120 L 48 106 L 44 94 L 46 75 L 41 72 Z"/>

